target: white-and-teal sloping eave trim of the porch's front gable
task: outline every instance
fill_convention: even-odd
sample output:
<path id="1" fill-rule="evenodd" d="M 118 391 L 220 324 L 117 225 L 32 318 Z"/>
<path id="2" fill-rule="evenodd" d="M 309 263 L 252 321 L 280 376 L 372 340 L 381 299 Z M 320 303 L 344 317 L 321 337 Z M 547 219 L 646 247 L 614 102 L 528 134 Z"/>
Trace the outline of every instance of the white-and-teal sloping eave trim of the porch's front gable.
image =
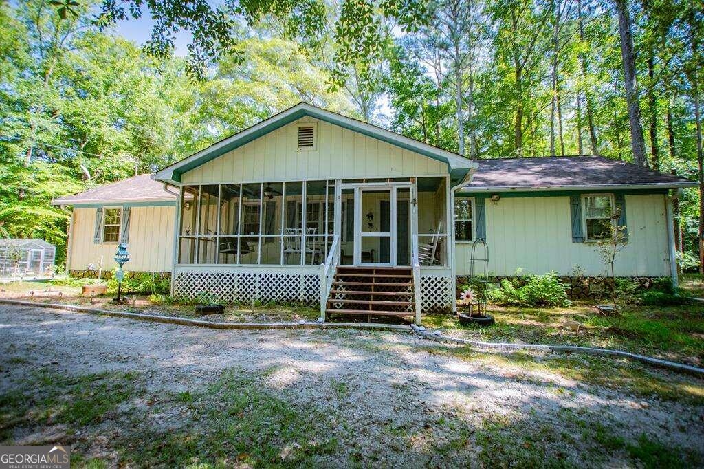
<path id="1" fill-rule="evenodd" d="M 389 144 L 400 146 L 403 149 L 410 151 L 415 151 L 418 154 L 427 156 L 428 158 L 433 158 L 434 160 L 447 163 L 448 172 L 451 175 L 451 179 L 454 184 L 462 182 L 462 180 L 467 177 L 470 170 L 477 168 L 477 164 L 472 162 L 472 160 L 465 158 L 460 154 L 453 153 L 452 151 L 447 151 L 437 146 L 432 146 L 424 142 L 419 142 L 418 140 L 404 137 L 395 132 L 383 129 L 377 125 L 372 125 L 364 123 L 361 120 L 356 120 L 353 118 L 348 118 L 345 115 L 338 113 L 333 113 L 317 106 L 312 106 L 306 103 L 298 103 L 296 106 L 288 108 L 286 111 L 282 111 L 278 114 L 272 115 L 272 117 L 261 121 L 251 127 L 237 132 L 226 139 L 220 140 L 215 144 L 208 146 L 206 149 L 198 151 L 187 158 L 173 163 L 156 173 L 156 179 L 164 182 L 176 183 L 180 182 L 181 175 L 186 173 L 193 168 L 207 163 L 218 156 L 221 156 L 228 151 L 236 149 L 239 146 L 247 144 L 263 135 L 277 130 L 279 127 L 283 127 L 289 123 L 294 122 L 302 117 L 310 116 L 319 120 L 324 120 L 325 122 L 339 125 L 348 130 L 353 130 L 354 132 L 359 132 L 360 134 L 367 135 L 368 137 L 374 137 L 376 139 L 382 140 Z"/>

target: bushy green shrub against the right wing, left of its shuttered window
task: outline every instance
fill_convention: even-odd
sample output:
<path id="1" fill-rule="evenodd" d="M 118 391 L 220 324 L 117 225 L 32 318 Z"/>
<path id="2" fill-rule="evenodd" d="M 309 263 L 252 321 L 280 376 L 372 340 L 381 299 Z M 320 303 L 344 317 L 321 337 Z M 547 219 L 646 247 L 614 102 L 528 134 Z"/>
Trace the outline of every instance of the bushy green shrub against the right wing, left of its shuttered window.
<path id="1" fill-rule="evenodd" d="M 499 304 L 514 306 L 570 306 L 565 284 L 560 282 L 557 273 L 529 275 L 522 286 L 518 277 L 501 280 L 501 289 L 494 290 L 493 299 Z"/>

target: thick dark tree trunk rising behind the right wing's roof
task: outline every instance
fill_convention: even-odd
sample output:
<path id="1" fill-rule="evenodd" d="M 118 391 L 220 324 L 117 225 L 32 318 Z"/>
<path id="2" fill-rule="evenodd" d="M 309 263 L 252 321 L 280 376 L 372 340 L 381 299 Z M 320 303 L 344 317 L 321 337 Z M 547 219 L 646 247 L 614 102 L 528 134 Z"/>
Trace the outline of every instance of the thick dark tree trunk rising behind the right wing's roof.
<path id="1" fill-rule="evenodd" d="M 646 143 L 641 127 L 641 105 L 638 102 L 638 81 L 636 80 L 636 54 L 631 35 L 631 15 L 627 0 L 616 0 L 619 35 L 621 37 L 621 58 L 626 82 L 626 102 L 628 120 L 631 127 L 631 147 L 636 165 L 646 165 Z"/>

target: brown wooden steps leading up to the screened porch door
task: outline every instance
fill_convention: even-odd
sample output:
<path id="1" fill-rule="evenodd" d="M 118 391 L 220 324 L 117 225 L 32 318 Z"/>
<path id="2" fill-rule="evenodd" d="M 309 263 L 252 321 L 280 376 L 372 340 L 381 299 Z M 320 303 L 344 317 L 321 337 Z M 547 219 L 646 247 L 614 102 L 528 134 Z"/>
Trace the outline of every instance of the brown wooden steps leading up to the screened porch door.
<path id="1" fill-rule="evenodd" d="M 335 272 L 326 315 L 415 316 L 410 267 L 344 267 Z"/>

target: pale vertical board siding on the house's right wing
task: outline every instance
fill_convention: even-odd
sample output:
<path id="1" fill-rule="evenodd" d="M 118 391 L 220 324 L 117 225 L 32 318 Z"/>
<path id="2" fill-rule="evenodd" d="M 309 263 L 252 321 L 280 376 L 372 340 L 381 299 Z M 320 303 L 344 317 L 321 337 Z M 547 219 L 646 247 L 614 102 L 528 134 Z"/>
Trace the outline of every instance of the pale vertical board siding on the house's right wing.
<path id="1" fill-rule="evenodd" d="M 623 277 L 670 275 L 665 196 L 626 195 L 628 244 L 617 255 L 615 273 Z M 570 197 L 486 199 L 486 242 L 491 275 L 604 275 L 605 263 L 593 243 L 572 242 Z M 470 273 L 472 245 L 456 246 L 458 275 Z M 481 250 L 480 250 L 481 251 Z M 483 268 L 477 263 L 474 270 Z"/>

